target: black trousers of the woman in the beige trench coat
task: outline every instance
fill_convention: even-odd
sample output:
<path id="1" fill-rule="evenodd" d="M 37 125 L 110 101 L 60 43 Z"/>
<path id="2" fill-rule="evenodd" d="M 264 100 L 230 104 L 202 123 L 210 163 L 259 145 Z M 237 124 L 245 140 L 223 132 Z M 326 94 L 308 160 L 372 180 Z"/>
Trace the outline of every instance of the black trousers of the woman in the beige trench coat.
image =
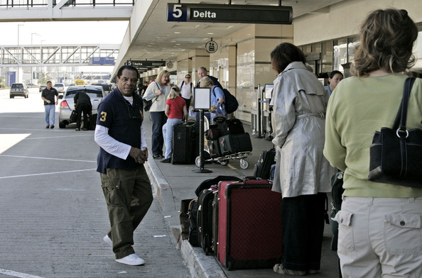
<path id="1" fill-rule="evenodd" d="M 284 268 L 320 269 L 326 198 L 325 193 L 283 198 L 281 262 Z"/>

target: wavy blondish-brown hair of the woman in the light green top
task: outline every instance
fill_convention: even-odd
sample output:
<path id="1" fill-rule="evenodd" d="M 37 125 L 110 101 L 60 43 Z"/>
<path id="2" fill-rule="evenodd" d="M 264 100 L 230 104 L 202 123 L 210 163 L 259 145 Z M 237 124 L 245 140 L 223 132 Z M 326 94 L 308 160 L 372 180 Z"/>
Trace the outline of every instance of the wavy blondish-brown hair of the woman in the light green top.
<path id="1" fill-rule="evenodd" d="M 377 10 L 362 23 L 352 73 L 365 77 L 374 70 L 404 72 L 415 63 L 413 43 L 418 28 L 407 11 Z"/>

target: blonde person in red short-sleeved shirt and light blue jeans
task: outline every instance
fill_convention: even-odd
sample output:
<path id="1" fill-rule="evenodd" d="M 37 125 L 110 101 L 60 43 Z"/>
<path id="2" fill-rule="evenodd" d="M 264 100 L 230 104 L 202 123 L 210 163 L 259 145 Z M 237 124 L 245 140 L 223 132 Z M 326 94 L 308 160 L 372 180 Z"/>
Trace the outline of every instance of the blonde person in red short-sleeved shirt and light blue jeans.
<path id="1" fill-rule="evenodd" d="M 188 121 L 189 113 L 186 108 L 186 101 L 180 96 L 180 88 L 177 86 L 171 87 L 171 92 L 168 94 L 166 101 L 166 116 L 167 122 L 163 126 L 164 145 L 166 146 L 166 153 L 161 160 L 163 163 L 171 162 L 171 154 L 173 152 L 173 126 L 183 121 Z"/>

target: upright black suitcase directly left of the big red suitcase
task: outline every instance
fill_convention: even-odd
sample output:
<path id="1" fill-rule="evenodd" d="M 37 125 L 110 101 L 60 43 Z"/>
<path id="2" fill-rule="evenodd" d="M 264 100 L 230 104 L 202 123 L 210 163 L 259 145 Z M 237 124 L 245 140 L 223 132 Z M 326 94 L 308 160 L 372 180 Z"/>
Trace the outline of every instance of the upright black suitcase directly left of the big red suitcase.
<path id="1" fill-rule="evenodd" d="M 198 243 L 205 255 L 212 254 L 212 201 L 214 191 L 204 189 L 198 197 Z"/>

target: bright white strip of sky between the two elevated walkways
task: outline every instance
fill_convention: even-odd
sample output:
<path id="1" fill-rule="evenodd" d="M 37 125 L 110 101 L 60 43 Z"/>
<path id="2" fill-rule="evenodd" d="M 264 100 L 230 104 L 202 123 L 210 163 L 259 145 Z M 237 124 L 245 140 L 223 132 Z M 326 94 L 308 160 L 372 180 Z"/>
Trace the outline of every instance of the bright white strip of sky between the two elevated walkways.
<path id="1" fill-rule="evenodd" d="M 120 44 L 129 21 L 48 21 L 0 23 L 0 45 Z"/>

